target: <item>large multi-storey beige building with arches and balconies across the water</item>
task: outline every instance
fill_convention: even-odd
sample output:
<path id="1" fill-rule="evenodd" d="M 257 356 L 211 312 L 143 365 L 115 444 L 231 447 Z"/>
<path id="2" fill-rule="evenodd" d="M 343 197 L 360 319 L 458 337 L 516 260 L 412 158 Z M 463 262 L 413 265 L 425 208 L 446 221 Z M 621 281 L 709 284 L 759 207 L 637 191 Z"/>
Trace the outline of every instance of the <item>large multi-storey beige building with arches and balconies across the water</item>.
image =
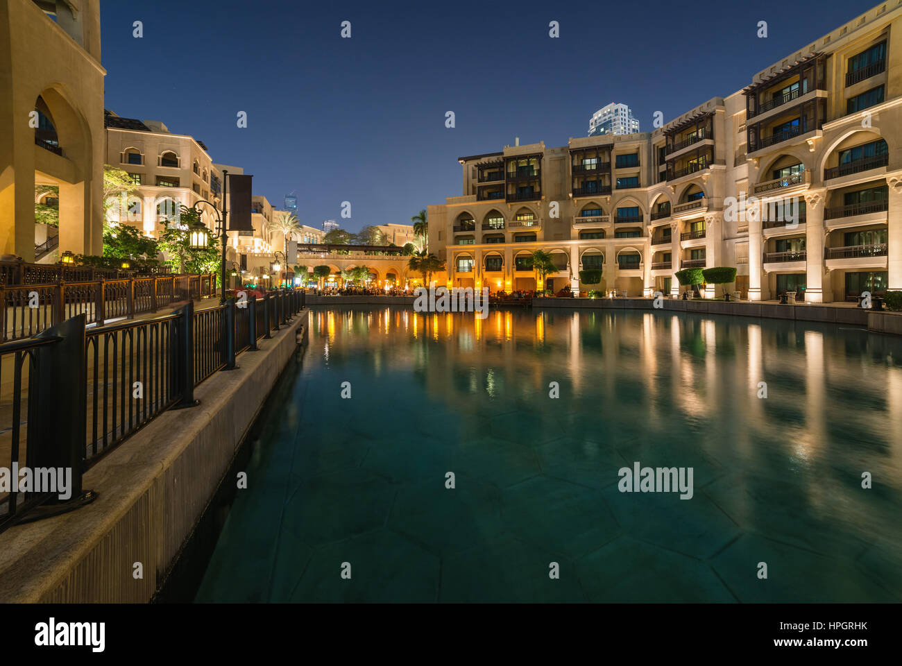
<path id="1" fill-rule="evenodd" d="M 735 266 L 742 298 L 854 301 L 902 290 L 900 150 L 893 0 L 650 134 L 459 158 L 463 192 L 429 207 L 429 250 L 450 286 L 535 289 L 541 248 L 555 291 L 676 295 L 681 268 Z"/>

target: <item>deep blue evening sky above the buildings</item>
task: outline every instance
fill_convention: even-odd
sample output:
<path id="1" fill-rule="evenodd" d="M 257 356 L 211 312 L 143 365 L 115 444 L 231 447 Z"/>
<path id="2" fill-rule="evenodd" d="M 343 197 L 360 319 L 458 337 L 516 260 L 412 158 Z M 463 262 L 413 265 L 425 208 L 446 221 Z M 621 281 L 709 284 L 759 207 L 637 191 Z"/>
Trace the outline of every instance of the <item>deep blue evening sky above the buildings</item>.
<path id="1" fill-rule="evenodd" d="M 650 131 L 876 4 L 101 0 L 106 107 L 195 136 L 279 208 L 296 190 L 304 224 L 356 231 L 460 195 L 460 155 L 564 145 L 612 101 Z"/>

